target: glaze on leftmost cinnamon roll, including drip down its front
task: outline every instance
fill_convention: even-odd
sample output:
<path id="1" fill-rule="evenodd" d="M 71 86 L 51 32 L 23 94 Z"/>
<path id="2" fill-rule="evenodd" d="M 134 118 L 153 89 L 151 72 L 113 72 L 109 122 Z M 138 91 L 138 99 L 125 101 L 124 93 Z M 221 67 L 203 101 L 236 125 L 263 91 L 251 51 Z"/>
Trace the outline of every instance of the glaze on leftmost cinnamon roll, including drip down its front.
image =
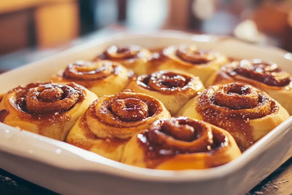
<path id="1" fill-rule="evenodd" d="M 22 120 L 48 120 L 53 123 L 69 120 L 66 111 L 86 98 L 84 89 L 75 83 L 31 83 L 12 89 L 8 95 L 15 93 L 15 99 L 10 102 L 20 111 Z"/>

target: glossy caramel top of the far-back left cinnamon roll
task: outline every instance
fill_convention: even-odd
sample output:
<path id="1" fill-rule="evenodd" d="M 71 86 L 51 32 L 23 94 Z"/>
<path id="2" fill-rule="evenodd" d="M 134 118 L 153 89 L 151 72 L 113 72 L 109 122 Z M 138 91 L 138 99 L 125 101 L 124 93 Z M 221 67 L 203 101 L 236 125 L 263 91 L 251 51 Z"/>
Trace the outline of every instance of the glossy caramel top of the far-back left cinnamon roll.
<path id="1" fill-rule="evenodd" d="M 104 60 L 126 60 L 136 58 L 141 51 L 140 46 L 131 45 L 128 47 L 118 47 L 115 45 L 110 46 L 105 52 L 99 56 Z"/>

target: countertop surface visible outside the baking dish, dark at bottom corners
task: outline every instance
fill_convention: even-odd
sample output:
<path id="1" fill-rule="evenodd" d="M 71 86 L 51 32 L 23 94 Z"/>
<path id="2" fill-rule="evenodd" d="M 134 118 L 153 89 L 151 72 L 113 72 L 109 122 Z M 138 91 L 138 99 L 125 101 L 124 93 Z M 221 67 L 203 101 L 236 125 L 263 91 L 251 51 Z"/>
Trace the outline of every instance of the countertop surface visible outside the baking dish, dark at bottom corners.
<path id="1" fill-rule="evenodd" d="M 8 54 L 6 56 L 0 57 L 0 73 L 1 70 L 6 71 L 11 68 L 16 68 L 19 65 L 30 63 L 32 61 L 39 60 L 46 56 L 50 56 L 59 51 L 67 49 L 69 47 L 78 45 L 83 42 L 91 41 L 100 38 L 105 35 L 117 33 L 113 32 L 112 29 L 105 29 L 86 37 L 81 37 L 74 42 L 65 45 L 61 48 L 42 50 L 37 49 L 27 49 L 13 54 Z M 56 193 L 39 187 L 35 184 L 27 182 L 15 175 L 12 175 L 2 169 L 0 169 L 0 195 L 18 195 L 18 194 L 29 194 L 29 195 L 56 195 Z M 290 158 L 286 163 L 279 167 L 275 172 L 273 172 L 269 177 L 260 182 L 255 188 L 253 188 L 246 195 L 291 195 L 292 194 L 292 158 Z"/>

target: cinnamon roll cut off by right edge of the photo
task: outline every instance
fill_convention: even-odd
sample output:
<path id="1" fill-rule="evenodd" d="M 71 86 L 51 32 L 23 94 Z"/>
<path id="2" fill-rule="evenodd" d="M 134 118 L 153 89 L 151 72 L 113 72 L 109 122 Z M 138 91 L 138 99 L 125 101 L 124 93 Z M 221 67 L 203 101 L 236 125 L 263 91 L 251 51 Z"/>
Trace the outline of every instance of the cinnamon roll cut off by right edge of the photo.
<path id="1" fill-rule="evenodd" d="M 260 59 L 227 63 L 208 79 L 206 85 L 234 81 L 247 83 L 267 92 L 292 115 L 292 77 L 289 73 L 282 71 L 277 64 Z"/>

